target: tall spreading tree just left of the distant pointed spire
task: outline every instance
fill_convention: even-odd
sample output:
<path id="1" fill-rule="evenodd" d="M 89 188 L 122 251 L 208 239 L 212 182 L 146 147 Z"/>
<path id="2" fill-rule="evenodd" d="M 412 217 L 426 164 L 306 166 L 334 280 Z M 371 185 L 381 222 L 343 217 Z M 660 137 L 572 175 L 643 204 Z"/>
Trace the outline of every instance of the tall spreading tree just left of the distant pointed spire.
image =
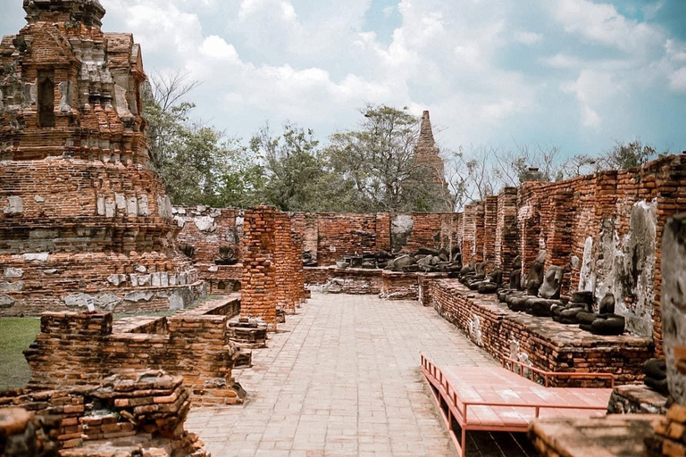
<path id="1" fill-rule="evenodd" d="M 359 129 L 333 134 L 325 151 L 330 170 L 348 190 L 350 210 L 430 210 L 439 192 L 430 165 L 414 157 L 419 119 L 383 104 L 367 104 L 360 112 Z"/>

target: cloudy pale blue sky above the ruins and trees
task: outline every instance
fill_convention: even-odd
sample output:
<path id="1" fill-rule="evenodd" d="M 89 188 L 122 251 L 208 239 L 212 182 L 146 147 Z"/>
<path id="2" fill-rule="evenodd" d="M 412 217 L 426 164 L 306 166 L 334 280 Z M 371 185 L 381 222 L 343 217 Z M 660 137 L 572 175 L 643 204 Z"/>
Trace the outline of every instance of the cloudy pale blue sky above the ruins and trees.
<path id="1" fill-rule="evenodd" d="M 23 25 L 0 0 L 0 33 Z M 101 0 L 146 71 L 203 81 L 230 136 L 293 120 L 324 138 L 366 102 L 407 106 L 442 145 L 597 154 L 640 137 L 686 149 L 683 0 Z"/>

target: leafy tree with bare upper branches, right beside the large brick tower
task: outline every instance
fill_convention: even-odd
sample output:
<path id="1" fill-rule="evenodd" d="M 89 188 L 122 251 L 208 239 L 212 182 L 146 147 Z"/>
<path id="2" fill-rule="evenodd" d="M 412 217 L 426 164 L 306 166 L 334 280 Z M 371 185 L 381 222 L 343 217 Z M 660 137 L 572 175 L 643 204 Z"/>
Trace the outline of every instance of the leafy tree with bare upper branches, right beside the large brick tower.
<path id="1" fill-rule="evenodd" d="M 188 74 L 153 75 L 143 91 L 151 167 L 174 204 L 249 206 L 259 202 L 263 169 L 238 139 L 190 120 L 197 87 Z"/>

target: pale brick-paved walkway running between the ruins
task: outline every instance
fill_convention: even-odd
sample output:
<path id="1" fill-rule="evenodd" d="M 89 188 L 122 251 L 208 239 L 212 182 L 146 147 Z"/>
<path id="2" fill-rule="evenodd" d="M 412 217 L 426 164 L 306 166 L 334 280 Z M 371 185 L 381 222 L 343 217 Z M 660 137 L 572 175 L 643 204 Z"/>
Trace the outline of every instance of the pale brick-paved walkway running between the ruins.
<path id="1" fill-rule="evenodd" d="M 494 364 L 430 308 L 372 295 L 314 294 L 235 371 L 243 406 L 195 409 L 187 422 L 214 457 L 455 456 L 419 353 Z"/>

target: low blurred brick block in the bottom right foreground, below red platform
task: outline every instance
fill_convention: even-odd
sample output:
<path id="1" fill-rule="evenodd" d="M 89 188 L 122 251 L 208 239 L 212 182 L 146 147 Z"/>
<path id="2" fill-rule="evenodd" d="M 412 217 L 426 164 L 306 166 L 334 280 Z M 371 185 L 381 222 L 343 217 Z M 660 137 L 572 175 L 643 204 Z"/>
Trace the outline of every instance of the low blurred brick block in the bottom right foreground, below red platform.
<path id="1" fill-rule="evenodd" d="M 536 420 L 529 437 L 541 457 L 642 457 L 643 439 L 662 416 L 610 414 L 604 418 Z"/>

